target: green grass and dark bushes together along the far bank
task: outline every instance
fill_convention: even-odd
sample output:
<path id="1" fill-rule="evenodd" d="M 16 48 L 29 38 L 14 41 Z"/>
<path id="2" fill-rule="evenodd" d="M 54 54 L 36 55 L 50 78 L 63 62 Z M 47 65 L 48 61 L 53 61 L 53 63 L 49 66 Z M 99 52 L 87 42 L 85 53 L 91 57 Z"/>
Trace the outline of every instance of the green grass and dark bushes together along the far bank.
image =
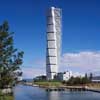
<path id="1" fill-rule="evenodd" d="M 91 84 L 91 78 L 92 74 L 90 77 L 87 77 L 87 74 L 85 74 L 84 77 L 71 77 L 67 81 L 60 81 L 60 80 L 46 80 L 46 77 L 44 76 L 38 76 L 34 80 L 34 84 L 39 85 L 39 86 L 55 86 L 55 87 L 60 87 L 60 86 L 75 86 L 75 85 L 87 85 Z"/>

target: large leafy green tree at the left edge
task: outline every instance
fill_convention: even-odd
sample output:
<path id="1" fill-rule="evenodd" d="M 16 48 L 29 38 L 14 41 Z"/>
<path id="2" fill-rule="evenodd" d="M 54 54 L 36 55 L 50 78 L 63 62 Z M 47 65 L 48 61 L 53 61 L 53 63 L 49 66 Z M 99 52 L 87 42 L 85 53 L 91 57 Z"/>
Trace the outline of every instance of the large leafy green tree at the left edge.
<path id="1" fill-rule="evenodd" d="M 0 88 L 12 85 L 22 64 L 23 51 L 14 48 L 13 34 L 7 21 L 0 26 Z"/>

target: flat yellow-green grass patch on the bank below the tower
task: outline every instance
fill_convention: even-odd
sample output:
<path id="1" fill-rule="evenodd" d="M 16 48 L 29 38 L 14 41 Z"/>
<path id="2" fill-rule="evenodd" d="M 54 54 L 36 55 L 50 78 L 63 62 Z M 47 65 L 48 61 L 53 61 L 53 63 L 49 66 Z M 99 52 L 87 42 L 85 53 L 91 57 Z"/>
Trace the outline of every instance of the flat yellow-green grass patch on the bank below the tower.
<path id="1" fill-rule="evenodd" d="M 34 82 L 34 84 L 39 85 L 39 86 L 54 86 L 54 87 L 59 87 L 62 86 L 63 84 L 61 82 L 58 81 L 38 81 L 38 82 Z"/>

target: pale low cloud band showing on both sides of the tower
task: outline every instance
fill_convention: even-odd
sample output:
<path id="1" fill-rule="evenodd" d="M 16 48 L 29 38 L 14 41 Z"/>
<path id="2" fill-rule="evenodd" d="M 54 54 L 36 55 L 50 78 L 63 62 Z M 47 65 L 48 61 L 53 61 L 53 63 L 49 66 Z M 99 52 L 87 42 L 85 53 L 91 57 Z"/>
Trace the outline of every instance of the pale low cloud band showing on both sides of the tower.
<path id="1" fill-rule="evenodd" d="M 33 78 L 46 73 L 45 60 L 37 60 L 35 67 L 23 67 L 23 78 Z M 75 75 L 85 72 L 100 72 L 100 52 L 64 53 L 61 57 L 59 71 L 71 70 Z"/>

